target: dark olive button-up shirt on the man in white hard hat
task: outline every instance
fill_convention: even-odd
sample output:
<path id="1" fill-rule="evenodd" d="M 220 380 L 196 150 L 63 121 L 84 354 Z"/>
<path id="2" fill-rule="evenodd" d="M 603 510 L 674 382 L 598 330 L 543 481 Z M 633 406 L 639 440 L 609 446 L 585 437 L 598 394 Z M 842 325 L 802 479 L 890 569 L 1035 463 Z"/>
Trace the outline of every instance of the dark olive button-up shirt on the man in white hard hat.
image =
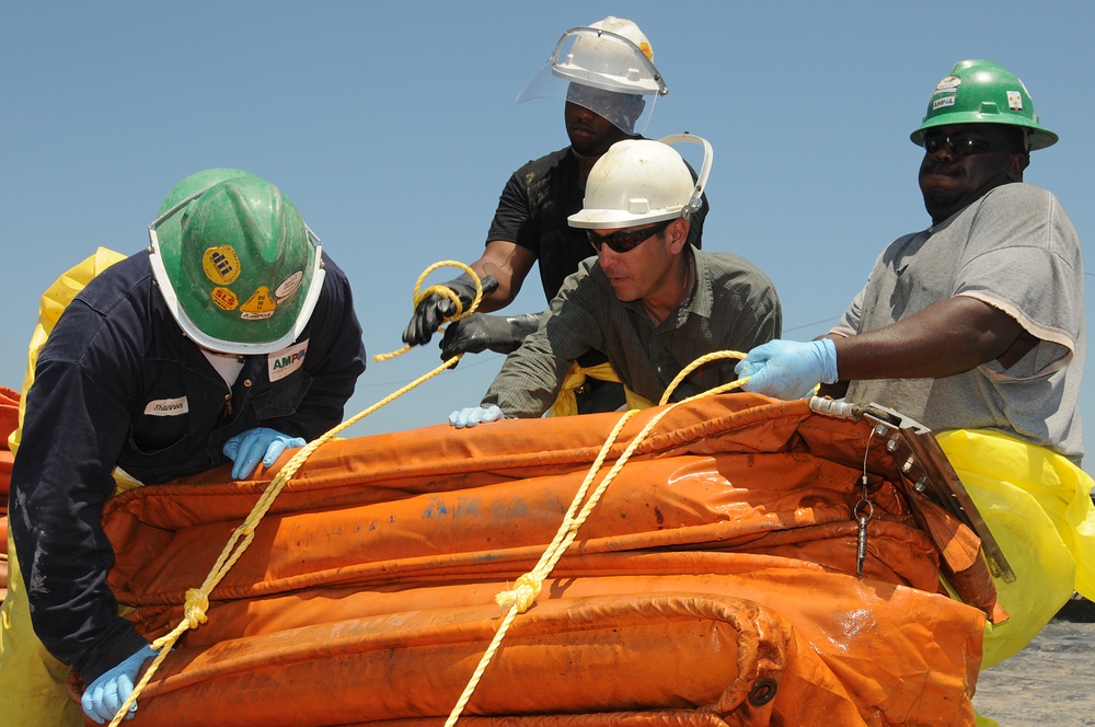
<path id="1" fill-rule="evenodd" d="M 685 247 L 685 250 L 689 250 Z M 748 351 L 780 335 L 783 318 L 772 281 L 731 253 L 692 251 L 692 292 L 655 324 L 641 301 L 623 302 L 590 257 L 563 281 L 540 328 L 509 355 L 483 397 L 508 417 L 533 417 L 555 402 L 570 364 L 604 351 L 632 391 L 657 403 L 677 374 L 717 350 Z M 673 401 L 736 380 L 736 359 L 711 361 L 690 373 Z"/>

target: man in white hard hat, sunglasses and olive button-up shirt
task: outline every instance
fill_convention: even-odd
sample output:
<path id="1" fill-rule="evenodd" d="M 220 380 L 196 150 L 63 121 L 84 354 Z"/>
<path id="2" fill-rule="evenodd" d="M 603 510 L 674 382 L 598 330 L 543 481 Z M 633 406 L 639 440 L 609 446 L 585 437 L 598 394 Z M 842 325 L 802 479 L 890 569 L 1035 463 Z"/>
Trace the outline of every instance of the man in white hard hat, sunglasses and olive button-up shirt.
<path id="1" fill-rule="evenodd" d="M 669 141 L 704 147 L 698 183 Z M 596 257 L 563 282 L 550 311 L 509 355 L 480 406 L 453 412 L 457 428 L 500 417 L 544 414 L 570 365 L 604 351 L 629 391 L 629 404 L 658 401 L 677 374 L 700 356 L 748 350 L 782 330 L 772 281 L 730 253 L 688 244 L 707 174 L 711 145 L 679 135 L 661 141 L 616 142 L 589 173 L 581 230 Z M 698 394 L 737 377 L 735 360 L 713 361 L 689 374 L 672 399 Z"/>

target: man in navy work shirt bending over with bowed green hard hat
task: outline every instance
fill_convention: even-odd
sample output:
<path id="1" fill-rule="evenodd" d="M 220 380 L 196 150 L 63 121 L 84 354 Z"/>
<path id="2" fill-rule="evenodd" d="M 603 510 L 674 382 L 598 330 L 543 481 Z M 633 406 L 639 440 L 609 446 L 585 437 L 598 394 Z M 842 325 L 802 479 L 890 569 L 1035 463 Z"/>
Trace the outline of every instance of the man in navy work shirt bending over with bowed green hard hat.
<path id="1" fill-rule="evenodd" d="M 11 477 L 21 580 L 0 631 L 4 724 L 84 724 L 70 668 L 83 713 L 110 722 L 154 655 L 106 584 L 101 520 L 119 480 L 228 462 L 233 478 L 258 476 L 341 423 L 365 370 L 346 276 L 269 182 L 198 172 L 149 239 L 68 304 L 34 367 Z"/>

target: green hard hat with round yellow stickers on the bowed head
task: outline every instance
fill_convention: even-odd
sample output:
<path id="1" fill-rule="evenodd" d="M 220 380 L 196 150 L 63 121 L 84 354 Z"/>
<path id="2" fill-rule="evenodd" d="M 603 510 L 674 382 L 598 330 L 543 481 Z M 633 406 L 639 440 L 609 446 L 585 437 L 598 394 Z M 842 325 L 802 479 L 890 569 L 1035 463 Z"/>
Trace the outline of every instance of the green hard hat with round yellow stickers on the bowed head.
<path id="1" fill-rule="evenodd" d="M 175 321 L 212 350 L 285 348 L 319 298 L 320 241 L 293 204 L 265 180 L 249 174 L 204 191 L 196 186 L 193 194 L 199 196 L 180 209 L 191 196 L 182 194 L 168 206 L 166 219 L 161 216 L 150 227 L 152 270 Z M 182 217 L 178 234 L 161 235 L 174 217 Z"/>

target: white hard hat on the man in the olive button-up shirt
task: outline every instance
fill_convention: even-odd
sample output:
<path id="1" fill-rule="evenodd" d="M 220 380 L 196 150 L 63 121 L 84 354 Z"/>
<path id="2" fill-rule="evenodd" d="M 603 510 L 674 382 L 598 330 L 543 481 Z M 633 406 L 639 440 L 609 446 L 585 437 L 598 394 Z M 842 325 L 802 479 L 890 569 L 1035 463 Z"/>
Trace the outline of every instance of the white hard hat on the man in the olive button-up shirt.
<path id="1" fill-rule="evenodd" d="M 703 145 L 703 166 L 695 183 L 684 159 L 669 146 L 678 141 Z M 581 211 L 567 221 L 574 228 L 614 230 L 689 219 L 703 204 L 713 155 L 707 140 L 691 134 L 616 141 L 589 171 Z"/>

